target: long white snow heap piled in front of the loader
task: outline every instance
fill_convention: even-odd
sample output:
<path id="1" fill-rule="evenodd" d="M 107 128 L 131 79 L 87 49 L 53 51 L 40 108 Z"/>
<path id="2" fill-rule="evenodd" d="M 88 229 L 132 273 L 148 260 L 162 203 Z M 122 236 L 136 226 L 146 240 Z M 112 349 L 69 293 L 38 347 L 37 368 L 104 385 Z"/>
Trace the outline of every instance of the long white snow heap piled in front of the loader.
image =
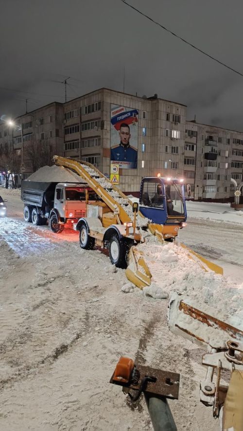
<path id="1" fill-rule="evenodd" d="M 237 285 L 229 278 L 206 272 L 190 259 L 188 252 L 174 243 L 166 246 L 139 244 L 153 275 L 152 281 L 170 296 L 174 292 L 195 298 L 199 304 L 216 306 L 225 316 L 243 315 L 243 283 Z M 232 321 L 231 321 L 232 322 Z M 241 325 L 243 326 L 243 320 Z"/>

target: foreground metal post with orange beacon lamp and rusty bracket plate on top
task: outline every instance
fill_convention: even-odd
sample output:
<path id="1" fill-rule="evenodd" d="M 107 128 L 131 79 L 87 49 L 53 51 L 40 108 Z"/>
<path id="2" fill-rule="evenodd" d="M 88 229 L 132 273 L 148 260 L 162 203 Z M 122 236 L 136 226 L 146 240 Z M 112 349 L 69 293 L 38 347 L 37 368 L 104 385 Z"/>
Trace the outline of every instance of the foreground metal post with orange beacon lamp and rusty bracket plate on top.
<path id="1" fill-rule="evenodd" d="M 133 359 L 121 357 L 110 383 L 122 386 L 131 402 L 143 393 L 154 430 L 177 430 L 167 398 L 178 399 L 179 374 L 136 365 Z"/>

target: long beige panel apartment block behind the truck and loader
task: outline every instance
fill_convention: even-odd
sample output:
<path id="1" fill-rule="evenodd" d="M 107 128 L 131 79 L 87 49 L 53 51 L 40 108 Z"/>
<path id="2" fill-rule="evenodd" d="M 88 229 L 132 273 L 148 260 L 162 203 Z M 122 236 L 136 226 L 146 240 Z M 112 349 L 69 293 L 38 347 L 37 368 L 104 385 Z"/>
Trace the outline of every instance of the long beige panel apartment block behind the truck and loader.
<path id="1" fill-rule="evenodd" d="M 123 125 L 130 133 L 131 149 L 125 153 L 133 152 L 136 162 L 133 168 L 126 157 L 114 162 L 122 191 L 136 194 L 143 177 L 160 173 L 184 178 L 196 200 L 232 198 L 231 179 L 238 185 L 243 180 L 243 132 L 187 121 L 186 114 L 185 105 L 157 95 L 100 89 L 17 117 L 15 129 L 0 125 L 0 148 L 13 145 L 20 157 L 23 147 L 23 178 L 33 172 L 28 147 L 38 154 L 48 147 L 52 155 L 90 162 L 108 177 L 113 149 L 124 157 L 119 131 Z"/>

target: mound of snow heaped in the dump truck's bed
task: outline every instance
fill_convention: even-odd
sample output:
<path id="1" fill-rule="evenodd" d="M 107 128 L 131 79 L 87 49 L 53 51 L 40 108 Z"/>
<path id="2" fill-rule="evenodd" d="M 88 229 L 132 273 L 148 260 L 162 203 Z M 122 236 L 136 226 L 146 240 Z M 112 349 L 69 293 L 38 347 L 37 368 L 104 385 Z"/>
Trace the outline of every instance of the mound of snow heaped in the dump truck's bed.
<path id="1" fill-rule="evenodd" d="M 82 182 L 83 178 L 63 166 L 43 166 L 28 177 L 27 181 Z"/>

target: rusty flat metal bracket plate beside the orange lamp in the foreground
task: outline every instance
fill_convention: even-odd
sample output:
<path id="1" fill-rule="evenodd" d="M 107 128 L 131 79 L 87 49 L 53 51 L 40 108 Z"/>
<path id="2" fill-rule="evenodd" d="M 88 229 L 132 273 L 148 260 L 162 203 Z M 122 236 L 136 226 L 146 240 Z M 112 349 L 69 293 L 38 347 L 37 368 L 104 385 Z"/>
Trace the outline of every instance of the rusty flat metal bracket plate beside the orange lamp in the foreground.
<path id="1" fill-rule="evenodd" d="M 136 370 L 139 373 L 139 379 L 126 384 L 113 380 L 114 373 L 110 379 L 110 383 L 123 386 L 134 391 L 140 391 L 140 385 L 145 377 L 153 378 L 154 381 L 147 381 L 146 388 L 142 392 L 153 395 L 161 395 L 166 398 L 178 399 L 180 375 L 170 371 L 157 370 L 156 368 L 136 365 Z M 127 392 L 127 391 L 126 391 Z"/>

